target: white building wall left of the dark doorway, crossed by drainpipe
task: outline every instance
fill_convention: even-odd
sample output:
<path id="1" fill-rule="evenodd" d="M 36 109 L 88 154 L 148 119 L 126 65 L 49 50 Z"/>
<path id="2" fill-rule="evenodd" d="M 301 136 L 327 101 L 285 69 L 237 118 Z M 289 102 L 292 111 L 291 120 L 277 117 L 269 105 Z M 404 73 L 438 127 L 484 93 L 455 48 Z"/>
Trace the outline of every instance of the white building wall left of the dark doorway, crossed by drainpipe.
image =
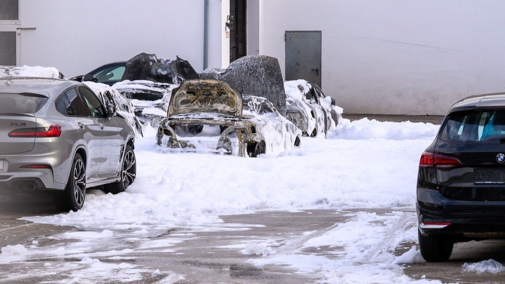
<path id="1" fill-rule="evenodd" d="M 229 50 L 219 42 L 222 5 L 209 1 L 212 67 L 223 67 Z M 146 52 L 163 59 L 178 55 L 203 70 L 203 0 L 20 0 L 19 13 L 22 27 L 36 27 L 21 32 L 22 65 L 54 66 L 72 77 Z"/>

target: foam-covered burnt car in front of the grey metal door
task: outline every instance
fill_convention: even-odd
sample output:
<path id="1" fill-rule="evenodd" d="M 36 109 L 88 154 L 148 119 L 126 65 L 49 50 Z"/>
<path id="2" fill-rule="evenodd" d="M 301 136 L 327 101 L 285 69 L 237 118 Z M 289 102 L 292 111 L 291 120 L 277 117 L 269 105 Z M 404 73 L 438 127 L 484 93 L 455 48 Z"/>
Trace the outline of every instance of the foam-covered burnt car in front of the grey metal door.
<path id="1" fill-rule="evenodd" d="M 305 136 L 325 136 L 334 131 L 342 119 L 342 108 L 325 96 L 321 88 L 306 80 L 284 82 L 286 90 L 286 118 Z"/>

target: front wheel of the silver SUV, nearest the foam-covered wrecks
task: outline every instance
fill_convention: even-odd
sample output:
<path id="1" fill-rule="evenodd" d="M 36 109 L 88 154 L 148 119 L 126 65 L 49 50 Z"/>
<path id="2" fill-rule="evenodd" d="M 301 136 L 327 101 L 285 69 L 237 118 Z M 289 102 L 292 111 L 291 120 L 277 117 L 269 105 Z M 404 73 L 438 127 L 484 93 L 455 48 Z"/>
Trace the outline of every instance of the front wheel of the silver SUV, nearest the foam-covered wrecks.
<path id="1" fill-rule="evenodd" d="M 126 188 L 133 183 L 137 175 L 137 160 L 135 159 L 135 152 L 131 145 L 127 145 L 121 166 L 121 179 L 116 182 L 104 184 L 104 192 L 118 194 L 126 190 Z"/>

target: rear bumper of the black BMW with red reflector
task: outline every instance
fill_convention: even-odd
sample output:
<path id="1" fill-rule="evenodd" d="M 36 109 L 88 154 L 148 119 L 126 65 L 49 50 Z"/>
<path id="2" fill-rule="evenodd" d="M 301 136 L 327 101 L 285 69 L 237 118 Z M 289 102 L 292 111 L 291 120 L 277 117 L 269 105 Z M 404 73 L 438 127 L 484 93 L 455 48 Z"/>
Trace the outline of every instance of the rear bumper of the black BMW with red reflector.
<path id="1" fill-rule="evenodd" d="M 456 201 L 447 199 L 437 190 L 418 187 L 416 207 L 423 235 L 486 238 L 493 233 L 496 236 L 503 233 L 505 238 L 505 201 Z M 442 225 L 432 225 L 440 223 Z"/>

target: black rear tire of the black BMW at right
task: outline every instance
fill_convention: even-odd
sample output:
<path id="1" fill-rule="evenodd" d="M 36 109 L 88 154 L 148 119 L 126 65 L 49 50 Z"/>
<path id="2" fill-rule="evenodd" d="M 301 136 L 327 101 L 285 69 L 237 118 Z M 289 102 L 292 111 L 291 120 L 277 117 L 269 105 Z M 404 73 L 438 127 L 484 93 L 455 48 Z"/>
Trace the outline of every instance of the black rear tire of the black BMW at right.
<path id="1" fill-rule="evenodd" d="M 424 260 L 428 262 L 447 261 L 454 243 L 442 235 L 422 235 L 418 230 L 419 247 Z"/>

